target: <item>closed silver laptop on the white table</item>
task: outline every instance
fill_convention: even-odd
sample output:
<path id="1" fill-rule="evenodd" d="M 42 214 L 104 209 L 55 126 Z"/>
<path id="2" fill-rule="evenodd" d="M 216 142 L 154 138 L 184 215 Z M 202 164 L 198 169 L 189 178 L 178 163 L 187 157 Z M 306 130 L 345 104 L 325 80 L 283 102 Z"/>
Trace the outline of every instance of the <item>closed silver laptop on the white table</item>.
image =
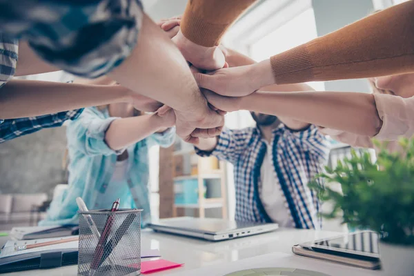
<path id="1" fill-rule="evenodd" d="M 258 224 L 248 221 L 229 221 L 227 219 L 173 217 L 159 219 L 148 224 L 148 228 L 164 233 L 197 237 L 209 241 L 222 241 L 266 233 L 279 228 L 277 224 Z"/>

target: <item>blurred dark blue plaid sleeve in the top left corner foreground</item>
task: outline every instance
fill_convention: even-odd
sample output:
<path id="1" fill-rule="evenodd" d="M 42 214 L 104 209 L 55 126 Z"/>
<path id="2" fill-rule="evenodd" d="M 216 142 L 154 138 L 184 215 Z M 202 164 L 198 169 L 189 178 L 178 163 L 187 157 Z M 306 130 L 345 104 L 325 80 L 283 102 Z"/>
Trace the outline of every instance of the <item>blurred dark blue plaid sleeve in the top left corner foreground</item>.
<path id="1" fill-rule="evenodd" d="M 0 0 L 3 34 L 86 78 L 106 75 L 130 55 L 142 16 L 139 0 Z"/>

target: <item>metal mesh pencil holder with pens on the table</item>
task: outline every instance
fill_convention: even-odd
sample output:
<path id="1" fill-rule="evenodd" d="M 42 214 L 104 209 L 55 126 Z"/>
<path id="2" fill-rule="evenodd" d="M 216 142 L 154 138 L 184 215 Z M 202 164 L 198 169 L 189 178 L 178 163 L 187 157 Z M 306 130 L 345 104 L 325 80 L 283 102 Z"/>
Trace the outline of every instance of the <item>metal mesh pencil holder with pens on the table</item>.
<path id="1" fill-rule="evenodd" d="M 141 211 L 78 212 L 78 275 L 141 274 Z"/>

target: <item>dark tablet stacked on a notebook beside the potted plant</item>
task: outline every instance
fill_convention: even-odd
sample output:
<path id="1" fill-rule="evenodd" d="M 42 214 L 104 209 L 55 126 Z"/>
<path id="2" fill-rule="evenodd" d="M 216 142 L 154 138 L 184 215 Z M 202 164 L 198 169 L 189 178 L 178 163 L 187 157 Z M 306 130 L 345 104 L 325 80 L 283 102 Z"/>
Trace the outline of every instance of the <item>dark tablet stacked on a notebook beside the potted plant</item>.
<path id="1" fill-rule="evenodd" d="M 339 237 L 319 239 L 293 246 L 296 255 L 329 262 L 379 269 L 378 234 L 372 231 L 347 233 Z"/>

